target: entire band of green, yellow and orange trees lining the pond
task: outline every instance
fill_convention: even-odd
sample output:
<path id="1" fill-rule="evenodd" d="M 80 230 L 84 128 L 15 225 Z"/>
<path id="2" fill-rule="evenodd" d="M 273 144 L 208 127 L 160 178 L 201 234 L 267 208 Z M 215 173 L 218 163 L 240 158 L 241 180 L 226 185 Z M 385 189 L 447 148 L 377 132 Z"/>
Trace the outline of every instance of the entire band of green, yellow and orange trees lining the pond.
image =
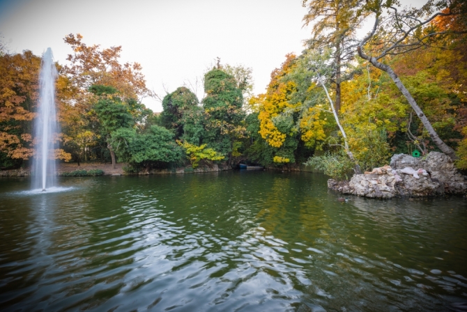
<path id="1" fill-rule="evenodd" d="M 135 172 L 306 162 L 349 178 L 352 168 L 382 166 L 394 153 L 455 150 L 457 166 L 467 169 L 466 4 L 404 11 L 417 19 L 401 26 L 394 19 L 409 15 L 391 3 L 303 1 L 312 36 L 302 54 L 287 54 L 273 70 L 265 93 L 252 95 L 251 68 L 217 62 L 204 74 L 204 98 L 181 86 L 163 98 L 160 114 L 141 103 L 153 93 L 138 63 L 120 63 L 121 47 L 88 46 L 70 34 L 70 64 L 57 64 L 57 155 L 78 164 L 128 162 Z M 355 30 L 373 18 L 374 31 L 356 38 Z M 39 67 L 31 52 L 0 54 L 2 169 L 33 157 Z"/>

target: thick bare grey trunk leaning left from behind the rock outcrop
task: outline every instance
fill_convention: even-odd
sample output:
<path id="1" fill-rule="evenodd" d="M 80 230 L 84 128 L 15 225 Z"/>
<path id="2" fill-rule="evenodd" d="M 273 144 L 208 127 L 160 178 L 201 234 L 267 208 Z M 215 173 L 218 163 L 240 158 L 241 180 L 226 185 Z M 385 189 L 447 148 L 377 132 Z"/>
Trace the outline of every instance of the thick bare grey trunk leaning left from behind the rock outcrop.
<path id="1" fill-rule="evenodd" d="M 433 143 L 436 144 L 436 146 L 441 150 L 441 152 L 443 152 L 447 156 L 451 157 L 451 159 L 453 159 L 453 160 L 457 159 L 457 156 L 454 153 L 454 150 L 452 148 L 450 148 L 449 146 L 447 146 L 446 143 L 444 143 L 443 140 L 438 136 L 438 134 L 434 130 L 433 126 L 429 122 L 427 116 L 425 116 L 423 114 L 422 109 L 420 109 L 417 102 L 415 102 L 415 99 L 413 98 L 411 93 L 408 92 L 406 86 L 404 86 L 404 84 L 402 84 L 401 79 L 399 79 L 399 77 L 397 77 L 394 70 L 392 70 L 392 68 L 390 68 L 388 65 L 385 65 L 383 63 L 378 62 L 375 57 L 371 57 L 371 58 L 369 56 L 366 56 L 366 58 L 363 57 L 362 56 L 363 54 L 361 52 L 360 47 L 358 49 L 358 54 L 360 54 L 360 56 L 363 59 L 367 59 L 367 61 L 372 63 L 374 65 L 374 67 L 388 73 L 389 77 L 391 77 L 392 81 L 394 81 L 394 83 L 396 84 L 399 91 L 401 91 L 401 93 L 407 99 L 408 104 L 410 104 L 412 109 L 415 111 L 415 114 L 417 114 L 418 118 L 420 118 L 420 120 L 422 121 L 422 123 L 423 123 L 425 129 L 428 131 L 429 136 L 431 137 L 431 140 L 433 141 Z"/>

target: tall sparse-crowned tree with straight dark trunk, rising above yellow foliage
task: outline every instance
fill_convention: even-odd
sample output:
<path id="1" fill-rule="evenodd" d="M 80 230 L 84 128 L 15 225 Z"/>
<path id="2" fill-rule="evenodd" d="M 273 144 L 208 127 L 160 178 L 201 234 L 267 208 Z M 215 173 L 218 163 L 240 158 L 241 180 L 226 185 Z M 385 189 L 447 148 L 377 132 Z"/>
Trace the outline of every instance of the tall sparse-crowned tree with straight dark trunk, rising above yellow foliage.
<path id="1" fill-rule="evenodd" d="M 353 59 L 355 31 L 362 20 L 361 0 L 303 0 L 308 13 L 305 25 L 314 22 L 309 49 L 332 49 L 333 63 L 330 79 L 335 83 L 335 110 L 341 109 L 342 69 Z"/>

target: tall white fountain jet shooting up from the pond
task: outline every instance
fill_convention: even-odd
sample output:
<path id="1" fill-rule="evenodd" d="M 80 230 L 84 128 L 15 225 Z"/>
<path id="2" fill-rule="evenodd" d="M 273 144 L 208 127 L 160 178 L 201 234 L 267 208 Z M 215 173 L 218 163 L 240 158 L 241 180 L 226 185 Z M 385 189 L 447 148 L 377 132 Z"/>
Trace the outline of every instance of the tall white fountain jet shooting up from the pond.
<path id="1" fill-rule="evenodd" d="M 55 81 L 58 76 L 52 49 L 43 55 L 39 76 L 38 117 L 34 125 L 36 157 L 33 159 L 33 189 L 55 187 L 56 171 L 54 151 L 58 148 L 59 125 L 55 109 Z"/>

